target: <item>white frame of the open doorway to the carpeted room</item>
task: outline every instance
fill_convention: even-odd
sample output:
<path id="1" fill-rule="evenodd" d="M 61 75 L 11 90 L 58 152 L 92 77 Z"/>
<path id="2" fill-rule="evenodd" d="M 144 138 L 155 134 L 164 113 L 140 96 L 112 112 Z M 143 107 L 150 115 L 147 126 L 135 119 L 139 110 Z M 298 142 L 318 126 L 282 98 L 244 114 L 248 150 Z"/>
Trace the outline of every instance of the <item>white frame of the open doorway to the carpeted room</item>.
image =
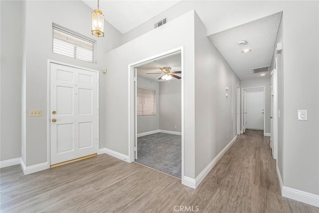
<path id="1" fill-rule="evenodd" d="M 168 50 L 158 55 L 145 58 L 143 60 L 131 63 L 128 65 L 129 71 L 129 163 L 135 161 L 134 148 L 135 141 L 137 140 L 136 134 L 136 120 L 137 120 L 137 109 L 135 107 L 135 68 L 144 64 L 150 63 L 154 60 L 164 58 L 170 55 L 181 54 L 181 180 L 184 178 L 184 77 L 183 77 L 183 46 Z"/>

